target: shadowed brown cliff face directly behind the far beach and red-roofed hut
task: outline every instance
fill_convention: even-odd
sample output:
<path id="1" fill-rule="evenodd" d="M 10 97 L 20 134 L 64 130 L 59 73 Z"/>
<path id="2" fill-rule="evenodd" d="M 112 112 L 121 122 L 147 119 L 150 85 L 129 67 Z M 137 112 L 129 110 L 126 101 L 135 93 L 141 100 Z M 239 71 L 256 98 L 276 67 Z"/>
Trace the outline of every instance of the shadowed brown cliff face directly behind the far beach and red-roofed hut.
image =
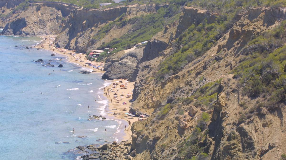
<path id="1" fill-rule="evenodd" d="M 124 18 L 130 19 L 146 13 L 156 12 L 157 6 L 124 6 L 105 10 L 78 9 L 69 15 L 67 23 L 57 36 L 56 44 L 59 47 L 89 52 L 114 38 L 120 38 L 131 30 L 131 25 L 122 27 L 114 26 L 105 33 L 104 38 L 93 38 L 100 29 L 124 14 Z"/>

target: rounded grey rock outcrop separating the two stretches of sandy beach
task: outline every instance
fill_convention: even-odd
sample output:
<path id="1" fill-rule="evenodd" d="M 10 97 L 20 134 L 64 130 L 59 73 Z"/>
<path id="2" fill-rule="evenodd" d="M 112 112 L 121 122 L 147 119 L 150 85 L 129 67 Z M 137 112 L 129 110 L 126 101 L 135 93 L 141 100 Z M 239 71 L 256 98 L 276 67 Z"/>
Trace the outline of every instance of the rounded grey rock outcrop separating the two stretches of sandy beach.
<path id="1" fill-rule="evenodd" d="M 126 53 L 120 61 L 113 61 L 105 66 L 106 72 L 102 75 L 103 79 L 128 79 L 135 81 L 138 69 L 137 64 L 142 59 L 143 49 L 138 49 Z"/>

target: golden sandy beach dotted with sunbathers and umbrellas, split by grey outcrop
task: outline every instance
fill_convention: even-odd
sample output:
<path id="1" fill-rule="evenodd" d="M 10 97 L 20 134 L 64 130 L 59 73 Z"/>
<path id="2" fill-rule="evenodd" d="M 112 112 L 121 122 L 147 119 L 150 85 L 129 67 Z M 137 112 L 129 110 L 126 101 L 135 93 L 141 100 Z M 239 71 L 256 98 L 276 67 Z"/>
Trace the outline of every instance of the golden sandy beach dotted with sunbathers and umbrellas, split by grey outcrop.
<path id="1" fill-rule="evenodd" d="M 103 71 L 104 63 L 94 62 L 94 61 L 91 62 L 87 60 L 86 54 L 78 54 L 75 51 L 62 48 L 55 48 L 53 45 L 51 45 L 53 44 L 54 41 L 54 35 L 47 35 L 44 36 L 43 38 L 44 40 L 40 44 L 36 45 L 35 48 L 50 50 L 55 54 L 61 54 L 65 56 L 69 62 L 79 64 L 81 67 L 92 69 L 96 71 L 95 73 L 105 72 Z M 86 64 L 87 62 L 100 67 L 94 68 L 92 66 L 87 65 Z M 129 107 L 133 102 L 132 93 L 134 89 L 134 83 L 135 82 L 129 82 L 127 79 L 114 79 L 109 86 L 104 88 L 104 96 L 106 96 L 109 101 L 108 107 L 106 109 L 106 113 L 108 114 L 108 116 L 111 116 L 115 120 L 125 120 L 129 124 L 128 126 L 126 125 L 126 130 L 125 126 L 122 126 L 125 132 L 123 137 L 123 140 L 125 141 L 130 140 L 131 138 L 132 123 L 139 120 L 138 117 L 128 116 L 128 114 L 125 114 L 129 111 L 130 109 Z M 140 118 L 140 119 L 146 119 L 146 118 Z"/>

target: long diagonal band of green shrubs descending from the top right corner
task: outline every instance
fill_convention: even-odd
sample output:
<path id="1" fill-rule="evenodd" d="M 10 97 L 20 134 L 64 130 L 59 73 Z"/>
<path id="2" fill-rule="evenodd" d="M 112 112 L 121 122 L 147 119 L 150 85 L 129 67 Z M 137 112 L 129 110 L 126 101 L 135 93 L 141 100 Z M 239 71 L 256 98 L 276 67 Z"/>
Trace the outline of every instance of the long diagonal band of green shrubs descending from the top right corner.
<path id="1" fill-rule="evenodd" d="M 157 79 L 161 80 L 170 75 L 178 73 L 186 64 L 202 56 L 206 50 L 210 49 L 222 34 L 227 32 L 235 22 L 235 16 L 247 11 L 251 7 L 261 6 L 285 6 L 285 1 L 269 0 L 241 0 L 241 1 L 201 1 L 194 0 L 188 2 L 187 6 L 198 6 L 207 9 L 209 12 L 217 12 L 215 22 L 203 21 L 198 26 L 190 26 L 181 34 L 174 46 L 172 56 L 160 64 Z M 178 47 L 180 46 L 180 47 Z"/>

